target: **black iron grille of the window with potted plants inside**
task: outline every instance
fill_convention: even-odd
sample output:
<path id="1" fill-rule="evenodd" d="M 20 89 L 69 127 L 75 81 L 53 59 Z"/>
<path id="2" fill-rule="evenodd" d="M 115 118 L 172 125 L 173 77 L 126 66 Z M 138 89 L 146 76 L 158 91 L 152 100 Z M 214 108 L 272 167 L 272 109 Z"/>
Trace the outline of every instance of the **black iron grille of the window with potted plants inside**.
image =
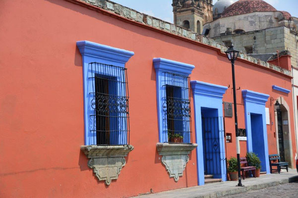
<path id="1" fill-rule="evenodd" d="M 163 135 L 168 143 L 191 144 L 189 77 L 163 72 Z"/>

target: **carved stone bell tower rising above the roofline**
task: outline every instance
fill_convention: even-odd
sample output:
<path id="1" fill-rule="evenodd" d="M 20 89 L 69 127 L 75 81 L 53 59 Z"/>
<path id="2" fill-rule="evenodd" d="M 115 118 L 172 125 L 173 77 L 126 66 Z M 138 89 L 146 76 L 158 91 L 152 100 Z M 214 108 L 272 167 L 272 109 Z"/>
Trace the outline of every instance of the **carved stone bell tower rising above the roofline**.
<path id="1" fill-rule="evenodd" d="M 199 34 L 211 22 L 212 0 L 173 0 L 174 23 Z"/>

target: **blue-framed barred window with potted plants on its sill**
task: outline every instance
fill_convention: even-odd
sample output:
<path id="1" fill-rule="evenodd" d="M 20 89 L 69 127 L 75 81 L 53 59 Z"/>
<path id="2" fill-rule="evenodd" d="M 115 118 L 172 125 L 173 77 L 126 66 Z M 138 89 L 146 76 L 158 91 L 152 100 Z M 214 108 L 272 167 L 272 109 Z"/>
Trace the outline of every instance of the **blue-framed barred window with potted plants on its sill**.
<path id="1" fill-rule="evenodd" d="M 164 58 L 153 59 L 156 71 L 159 141 L 192 143 L 189 77 L 194 68 Z"/>

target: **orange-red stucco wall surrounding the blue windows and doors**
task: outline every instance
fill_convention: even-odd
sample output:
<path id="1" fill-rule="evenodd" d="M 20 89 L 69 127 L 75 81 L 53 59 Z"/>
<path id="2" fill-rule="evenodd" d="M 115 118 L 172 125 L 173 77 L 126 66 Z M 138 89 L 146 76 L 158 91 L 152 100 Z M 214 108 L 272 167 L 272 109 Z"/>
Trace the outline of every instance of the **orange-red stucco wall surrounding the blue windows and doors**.
<path id="1" fill-rule="evenodd" d="M 156 77 L 152 59 L 163 57 L 195 65 L 191 80 L 232 87 L 231 64 L 225 56 L 156 31 L 64 0 L 0 2 L 0 197 L 130 197 L 197 185 L 196 152 L 183 177 L 170 179 L 156 150 L 158 142 Z M 84 144 L 82 60 L 76 41 L 88 40 L 134 51 L 128 61 L 130 144 L 119 179 L 107 187 L 98 182 L 80 151 Z M 291 79 L 236 62 L 241 90 L 283 96 L 275 85 L 291 90 Z M 233 101 L 231 87 L 224 101 Z M 241 90 L 237 92 L 239 128 L 245 128 Z M 192 95 L 191 95 L 191 100 Z M 270 108 L 274 117 L 273 106 Z M 193 103 L 192 137 L 194 134 Z M 271 120 L 275 122 L 274 119 Z M 293 140 L 294 120 L 291 117 Z M 276 153 L 274 125 L 268 125 L 269 154 Z M 234 143 L 234 118 L 226 119 Z M 293 141 L 293 148 L 296 148 Z M 244 156 L 246 143 L 241 142 Z M 293 151 L 294 153 L 296 150 Z"/>

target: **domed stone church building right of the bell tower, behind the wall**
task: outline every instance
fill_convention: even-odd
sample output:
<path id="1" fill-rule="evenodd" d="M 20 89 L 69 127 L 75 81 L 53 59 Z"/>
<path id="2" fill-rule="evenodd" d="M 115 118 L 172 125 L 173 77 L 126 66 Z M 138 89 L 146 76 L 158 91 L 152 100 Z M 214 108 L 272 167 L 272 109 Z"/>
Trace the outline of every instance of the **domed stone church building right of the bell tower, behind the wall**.
<path id="1" fill-rule="evenodd" d="M 236 49 L 247 54 L 289 50 L 292 65 L 298 67 L 298 18 L 263 0 L 238 0 L 224 10 L 219 6 L 229 2 L 215 3 L 215 20 L 204 24 L 204 35 L 227 47 L 233 42 Z"/>

